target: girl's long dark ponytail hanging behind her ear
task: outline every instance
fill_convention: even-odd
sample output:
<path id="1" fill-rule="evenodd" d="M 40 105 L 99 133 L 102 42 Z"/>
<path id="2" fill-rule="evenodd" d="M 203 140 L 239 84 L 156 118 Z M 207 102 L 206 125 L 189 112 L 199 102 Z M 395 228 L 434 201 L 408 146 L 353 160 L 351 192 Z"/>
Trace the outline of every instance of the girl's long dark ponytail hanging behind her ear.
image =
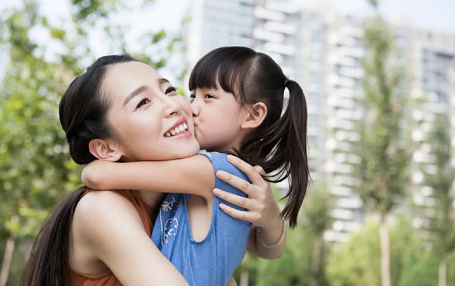
<path id="1" fill-rule="evenodd" d="M 253 131 L 236 150 L 243 160 L 260 165 L 269 182 L 278 183 L 288 177 L 289 191 L 283 197 L 287 203 L 281 213 L 289 225 L 297 225 L 297 216 L 308 188 L 310 172 L 307 152 L 307 103 L 297 82 L 285 80 L 289 90 L 289 102 L 283 115 L 268 118 Z M 279 91 L 283 95 L 284 88 Z"/>

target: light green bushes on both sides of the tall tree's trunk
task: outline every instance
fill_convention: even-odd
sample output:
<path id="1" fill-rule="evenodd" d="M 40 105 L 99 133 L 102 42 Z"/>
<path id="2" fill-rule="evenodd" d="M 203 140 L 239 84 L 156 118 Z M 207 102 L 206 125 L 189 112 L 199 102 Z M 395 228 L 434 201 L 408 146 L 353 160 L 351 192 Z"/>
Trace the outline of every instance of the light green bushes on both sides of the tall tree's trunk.
<path id="1" fill-rule="evenodd" d="M 422 247 L 423 242 L 415 238 L 410 222 L 400 220 L 389 231 L 392 285 L 436 285 L 435 254 Z M 369 221 L 348 242 L 334 245 L 327 265 L 330 285 L 380 285 L 378 232 L 378 224 Z"/>

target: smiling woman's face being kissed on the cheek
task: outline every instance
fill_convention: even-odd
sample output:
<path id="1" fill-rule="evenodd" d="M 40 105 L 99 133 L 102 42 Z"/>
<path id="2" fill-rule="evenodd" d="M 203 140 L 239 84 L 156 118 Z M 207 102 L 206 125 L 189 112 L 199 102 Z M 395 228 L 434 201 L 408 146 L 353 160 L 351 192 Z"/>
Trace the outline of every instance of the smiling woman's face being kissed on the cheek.
<path id="1" fill-rule="evenodd" d="M 114 64 L 101 88 L 111 97 L 107 117 L 122 159 L 171 160 L 199 151 L 191 106 L 151 66 Z"/>

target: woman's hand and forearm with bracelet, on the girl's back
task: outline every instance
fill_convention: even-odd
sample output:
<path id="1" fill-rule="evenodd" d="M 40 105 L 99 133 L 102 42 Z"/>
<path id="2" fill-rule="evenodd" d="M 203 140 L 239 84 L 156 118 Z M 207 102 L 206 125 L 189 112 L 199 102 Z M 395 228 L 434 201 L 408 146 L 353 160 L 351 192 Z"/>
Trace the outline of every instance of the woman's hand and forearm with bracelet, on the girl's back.
<path id="1" fill-rule="evenodd" d="M 246 210 L 239 210 L 220 204 L 226 214 L 253 224 L 248 239 L 248 251 L 265 259 L 275 259 L 283 255 L 286 245 L 286 230 L 281 219 L 278 204 L 273 199 L 270 184 L 262 175 L 264 170 L 260 166 L 251 166 L 234 156 L 227 156 L 229 162 L 248 176 L 252 184 L 225 172 L 217 172 L 217 177 L 236 187 L 248 195 L 247 198 L 215 189 L 213 193 L 229 203 L 241 206 Z M 260 228 L 259 237 L 257 228 Z M 278 243 L 279 242 L 279 243 Z M 268 245 L 269 247 L 265 246 Z M 273 245 L 273 247 L 270 247 Z"/>

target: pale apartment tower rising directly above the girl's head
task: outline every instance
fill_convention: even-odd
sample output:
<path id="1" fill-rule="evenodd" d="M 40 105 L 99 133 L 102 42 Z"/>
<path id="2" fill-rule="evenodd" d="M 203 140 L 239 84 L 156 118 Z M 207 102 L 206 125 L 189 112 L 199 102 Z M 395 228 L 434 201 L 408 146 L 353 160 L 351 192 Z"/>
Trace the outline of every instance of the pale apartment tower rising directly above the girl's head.
<path id="1" fill-rule="evenodd" d="M 220 46 L 248 46 L 270 55 L 283 72 L 298 76 L 298 13 L 288 0 L 195 0 L 187 27 L 189 68 Z"/>

